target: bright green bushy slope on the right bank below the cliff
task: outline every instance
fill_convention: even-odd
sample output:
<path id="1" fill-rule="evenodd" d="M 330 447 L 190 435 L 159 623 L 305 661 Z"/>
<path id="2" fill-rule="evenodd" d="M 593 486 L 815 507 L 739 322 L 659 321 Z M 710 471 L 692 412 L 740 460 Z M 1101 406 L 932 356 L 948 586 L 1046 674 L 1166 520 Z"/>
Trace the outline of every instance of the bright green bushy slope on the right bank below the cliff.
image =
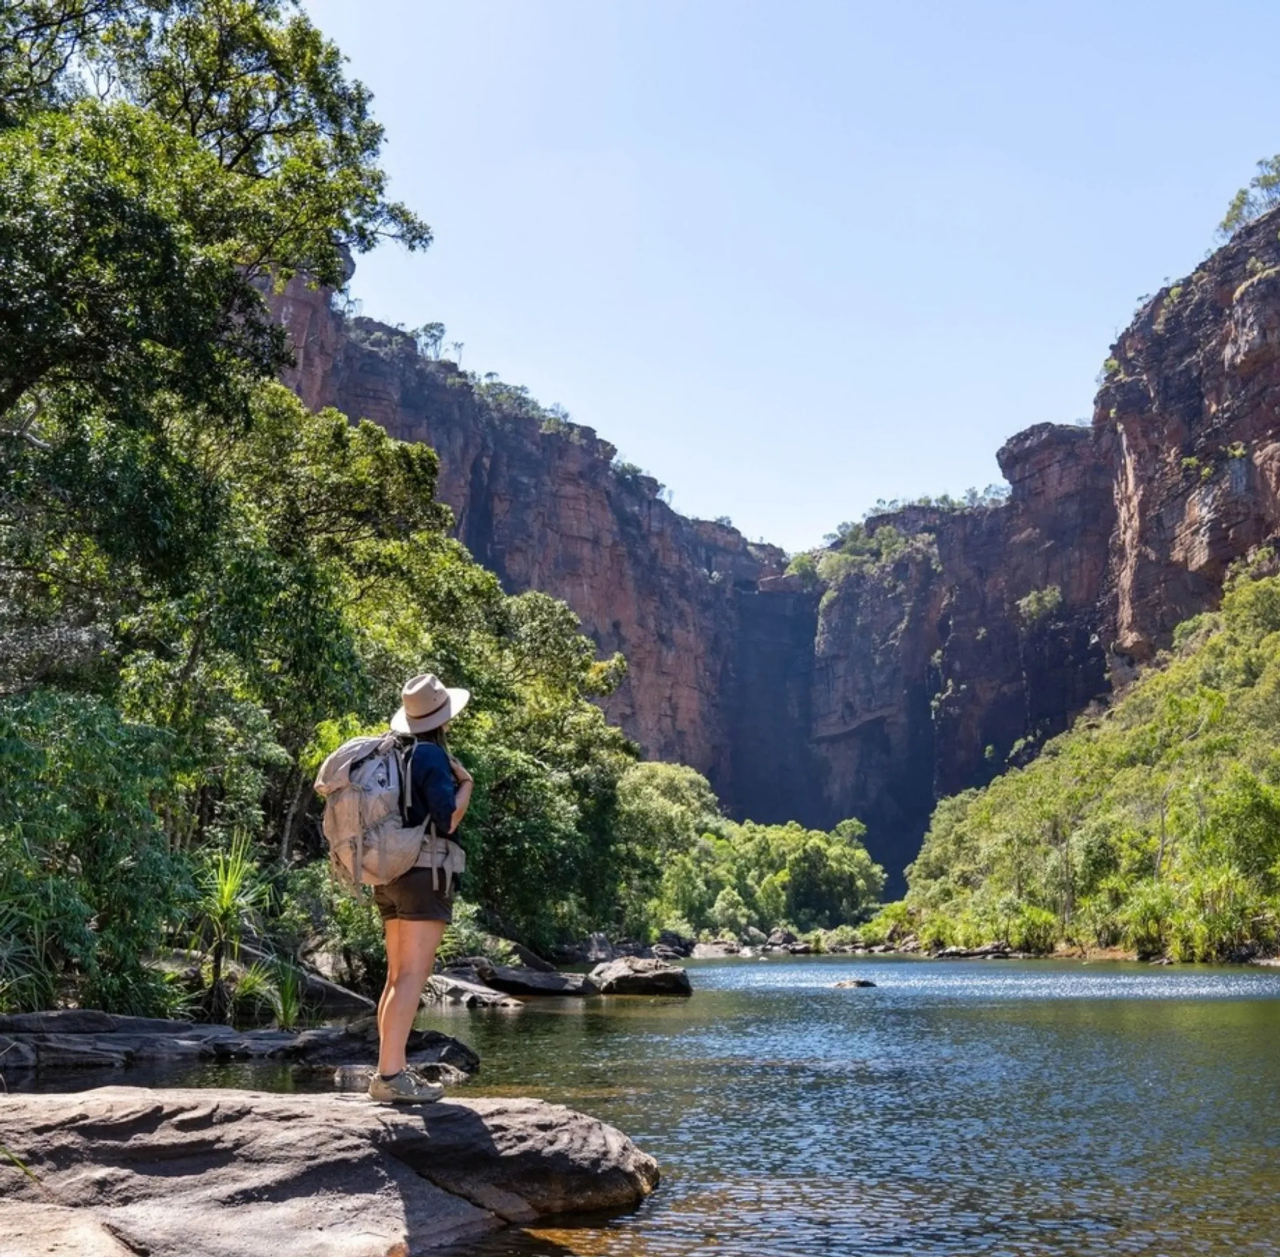
<path id="1" fill-rule="evenodd" d="M 1239 575 L 1105 716 L 943 800 L 908 878 L 869 937 L 1185 960 L 1274 950 L 1280 576 Z"/>

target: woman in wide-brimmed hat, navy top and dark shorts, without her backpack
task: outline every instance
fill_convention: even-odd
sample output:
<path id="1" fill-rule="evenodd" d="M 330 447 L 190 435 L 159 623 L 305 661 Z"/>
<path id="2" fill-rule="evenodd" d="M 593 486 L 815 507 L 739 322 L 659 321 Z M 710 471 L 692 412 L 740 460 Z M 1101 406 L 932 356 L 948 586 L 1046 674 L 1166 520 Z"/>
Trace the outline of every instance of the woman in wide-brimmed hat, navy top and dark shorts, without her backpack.
<path id="1" fill-rule="evenodd" d="M 466 690 L 451 690 L 431 673 L 412 677 L 392 728 L 415 739 L 410 759 L 407 826 L 434 827 L 451 837 L 471 803 L 471 774 L 449 754 L 444 733 L 467 705 Z M 387 937 L 387 986 L 378 1001 L 378 1073 L 369 1080 L 372 1100 L 421 1103 L 439 1100 L 444 1088 L 419 1077 L 404 1060 L 419 1000 L 435 965 L 435 950 L 453 919 L 453 886 L 434 868 L 412 868 L 374 888 Z"/>

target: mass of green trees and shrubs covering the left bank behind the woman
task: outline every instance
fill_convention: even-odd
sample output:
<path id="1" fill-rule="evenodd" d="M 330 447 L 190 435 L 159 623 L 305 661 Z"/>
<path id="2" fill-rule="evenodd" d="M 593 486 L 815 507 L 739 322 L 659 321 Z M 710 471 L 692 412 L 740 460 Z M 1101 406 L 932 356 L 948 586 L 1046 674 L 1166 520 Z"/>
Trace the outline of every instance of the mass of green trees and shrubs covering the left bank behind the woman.
<path id="1" fill-rule="evenodd" d="M 435 454 L 274 381 L 264 285 L 430 241 L 380 143 L 287 4 L 0 10 L 0 1007 L 173 1007 L 156 949 L 220 964 L 248 927 L 376 986 L 310 781 L 425 669 L 476 695 L 490 928 L 838 924 L 877 892 L 855 829 L 730 826 L 696 774 L 637 767 L 591 701 L 623 662 L 448 536 Z"/>

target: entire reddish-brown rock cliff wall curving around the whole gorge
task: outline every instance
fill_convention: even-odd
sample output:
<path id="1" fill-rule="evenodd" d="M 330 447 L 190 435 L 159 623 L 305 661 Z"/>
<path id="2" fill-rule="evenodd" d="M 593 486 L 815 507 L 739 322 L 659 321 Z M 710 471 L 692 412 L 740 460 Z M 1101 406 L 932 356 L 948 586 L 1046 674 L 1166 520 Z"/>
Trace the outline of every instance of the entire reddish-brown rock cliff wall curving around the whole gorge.
<path id="1" fill-rule="evenodd" d="M 337 316 L 324 293 L 294 283 L 276 303 L 303 399 L 434 445 L 476 558 L 626 654 L 608 710 L 650 757 L 705 772 L 739 815 L 858 815 L 900 873 L 937 797 L 1034 754 L 1280 530 L 1277 227 L 1260 220 L 1139 311 L 1091 428 L 1006 443 L 1005 503 L 872 518 L 906 544 L 826 590 L 673 512 L 590 429 Z"/>

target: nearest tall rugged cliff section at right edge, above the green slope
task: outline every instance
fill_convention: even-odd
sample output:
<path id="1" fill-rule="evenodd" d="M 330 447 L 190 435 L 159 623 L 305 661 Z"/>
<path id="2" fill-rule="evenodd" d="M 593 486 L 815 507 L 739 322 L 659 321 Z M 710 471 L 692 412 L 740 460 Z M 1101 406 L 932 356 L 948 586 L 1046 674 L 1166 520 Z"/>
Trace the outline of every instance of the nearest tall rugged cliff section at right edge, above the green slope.
<path id="1" fill-rule="evenodd" d="M 1146 659 L 1280 524 L 1277 215 L 1161 289 L 1112 347 L 1094 429 L 1114 480 L 1116 650 Z"/>

